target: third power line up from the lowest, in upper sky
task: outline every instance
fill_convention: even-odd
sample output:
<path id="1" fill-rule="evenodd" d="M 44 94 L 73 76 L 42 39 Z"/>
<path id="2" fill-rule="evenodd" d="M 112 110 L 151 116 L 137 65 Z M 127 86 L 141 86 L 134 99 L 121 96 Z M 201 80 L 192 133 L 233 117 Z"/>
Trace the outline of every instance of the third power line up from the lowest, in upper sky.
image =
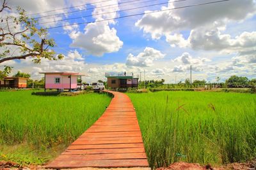
<path id="1" fill-rule="evenodd" d="M 125 2 L 122 2 L 122 3 L 108 4 L 108 5 L 105 5 L 105 6 L 98 6 L 98 7 L 95 6 L 95 7 L 87 8 L 87 9 L 84 9 L 84 10 L 76 10 L 76 11 L 69 11 L 69 12 L 65 12 L 65 13 L 56 13 L 56 14 L 52 14 L 52 15 L 45 15 L 45 16 L 42 16 L 42 17 L 35 17 L 35 19 L 45 18 L 45 17 L 53 17 L 53 16 L 56 16 L 56 15 L 65 15 L 65 14 L 68 14 L 68 13 L 76 13 L 76 12 L 79 12 L 79 11 L 94 10 L 94 9 L 98 9 L 98 8 L 108 7 L 108 6 L 115 6 L 115 5 L 120 5 L 120 4 L 132 3 L 132 2 L 136 2 L 136 1 L 143 1 L 143 0 L 125 1 Z M 150 1 L 157 1 L 157 0 L 150 0 Z M 145 1 L 145 2 L 140 2 L 140 3 L 148 3 L 150 1 Z M 134 3 L 134 4 L 136 4 L 136 3 Z M 128 5 L 132 5 L 132 4 L 128 4 Z"/>

